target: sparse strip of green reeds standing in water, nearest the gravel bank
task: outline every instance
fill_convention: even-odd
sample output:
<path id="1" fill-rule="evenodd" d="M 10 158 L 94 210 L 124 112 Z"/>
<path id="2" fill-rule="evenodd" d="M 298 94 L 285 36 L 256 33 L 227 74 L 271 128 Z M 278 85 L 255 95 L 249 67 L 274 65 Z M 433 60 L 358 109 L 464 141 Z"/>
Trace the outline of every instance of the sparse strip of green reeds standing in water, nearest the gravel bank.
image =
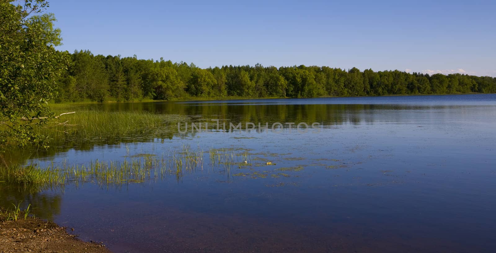
<path id="1" fill-rule="evenodd" d="M 209 153 L 210 164 L 204 164 L 204 156 Z M 76 186 L 87 182 L 102 186 L 143 183 L 147 180 L 164 179 L 175 176 L 178 181 L 186 174 L 211 172 L 221 166 L 220 172 L 231 171 L 233 166 L 249 166 L 251 158 L 246 151 L 232 149 L 204 152 L 199 147 L 193 149 L 184 145 L 162 154 L 126 155 L 120 161 L 93 160 L 84 164 L 71 164 L 63 160 L 60 164 L 51 163 L 42 167 L 37 164 L 0 166 L 0 182 L 17 184 L 37 192 L 74 183 Z"/>

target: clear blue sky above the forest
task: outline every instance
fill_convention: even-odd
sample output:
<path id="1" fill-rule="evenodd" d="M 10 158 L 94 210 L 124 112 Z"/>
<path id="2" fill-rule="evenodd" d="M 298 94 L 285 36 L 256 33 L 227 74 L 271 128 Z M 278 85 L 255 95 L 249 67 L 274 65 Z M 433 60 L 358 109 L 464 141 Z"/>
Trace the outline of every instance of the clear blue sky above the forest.
<path id="1" fill-rule="evenodd" d="M 496 76 L 496 1 L 50 0 L 60 50 Z"/>

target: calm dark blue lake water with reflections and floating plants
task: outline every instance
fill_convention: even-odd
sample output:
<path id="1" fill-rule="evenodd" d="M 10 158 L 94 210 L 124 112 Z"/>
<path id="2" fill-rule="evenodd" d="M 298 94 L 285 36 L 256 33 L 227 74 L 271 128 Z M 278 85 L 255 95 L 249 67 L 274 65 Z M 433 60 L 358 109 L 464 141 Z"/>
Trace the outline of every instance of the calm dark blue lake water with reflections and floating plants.
<path id="1" fill-rule="evenodd" d="M 180 176 L 1 188 L 116 253 L 496 252 L 496 95 L 74 106 L 177 117 L 160 136 L 56 140 L 27 163 L 202 156 Z"/>

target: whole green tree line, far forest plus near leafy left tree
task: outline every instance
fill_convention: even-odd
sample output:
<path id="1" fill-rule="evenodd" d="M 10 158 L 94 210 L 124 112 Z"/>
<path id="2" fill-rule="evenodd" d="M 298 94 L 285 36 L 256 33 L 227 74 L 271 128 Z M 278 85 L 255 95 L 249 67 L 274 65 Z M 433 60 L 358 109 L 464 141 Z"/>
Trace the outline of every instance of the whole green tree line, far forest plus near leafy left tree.
<path id="1" fill-rule="evenodd" d="M 49 101 L 190 98 L 310 98 L 496 93 L 496 78 L 374 72 L 319 66 L 222 66 L 202 69 L 133 57 L 58 51 L 61 30 L 46 0 L 0 0 L 0 165 L 7 146 L 45 146 L 36 129 L 58 118 Z M 64 124 L 64 122 L 60 122 Z"/>

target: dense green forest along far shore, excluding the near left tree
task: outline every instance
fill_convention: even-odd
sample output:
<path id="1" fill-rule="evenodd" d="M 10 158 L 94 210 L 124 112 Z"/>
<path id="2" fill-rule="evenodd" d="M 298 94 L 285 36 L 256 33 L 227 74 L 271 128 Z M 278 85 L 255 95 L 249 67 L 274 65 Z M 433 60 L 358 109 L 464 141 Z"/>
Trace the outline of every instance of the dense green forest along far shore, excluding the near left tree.
<path id="1" fill-rule="evenodd" d="M 154 61 L 93 55 L 90 51 L 74 51 L 69 58 L 67 71 L 57 82 L 57 102 L 496 93 L 496 78 L 489 76 L 304 65 L 202 69 L 163 58 Z"/>

